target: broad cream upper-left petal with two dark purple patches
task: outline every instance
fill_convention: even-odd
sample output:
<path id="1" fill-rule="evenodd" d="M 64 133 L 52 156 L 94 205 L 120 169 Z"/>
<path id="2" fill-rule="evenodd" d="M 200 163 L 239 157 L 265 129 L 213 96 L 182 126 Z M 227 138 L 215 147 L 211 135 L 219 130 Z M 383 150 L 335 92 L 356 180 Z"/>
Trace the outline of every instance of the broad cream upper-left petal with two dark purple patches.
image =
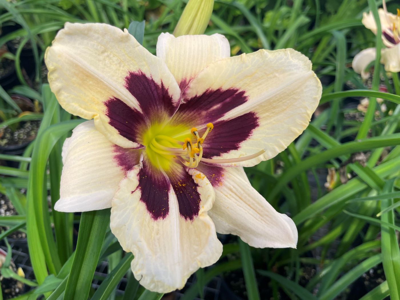
<path id="1" fill-rule="evenodd" d="M 107 24 L 66 23 L 46 50 L 50 88 L 61 106 L 114 144 L 140 147 L 134 133 L 152 116 L 170 117 L 180 89 L 166 64 Z"/>

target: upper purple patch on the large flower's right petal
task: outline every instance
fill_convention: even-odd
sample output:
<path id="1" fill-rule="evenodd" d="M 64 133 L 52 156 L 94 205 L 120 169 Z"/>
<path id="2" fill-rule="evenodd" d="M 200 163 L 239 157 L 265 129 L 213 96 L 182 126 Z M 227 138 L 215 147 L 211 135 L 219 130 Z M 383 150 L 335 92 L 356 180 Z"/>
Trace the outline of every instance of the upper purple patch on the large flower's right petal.
<path id="1" fill-rule="evenodd" d="M 193 125 L 214 122 L 246 101 L 245 92 L 236 88 L 209 89 L 181 103 L 174 116 L 174 122 L 190 122 Z"/>

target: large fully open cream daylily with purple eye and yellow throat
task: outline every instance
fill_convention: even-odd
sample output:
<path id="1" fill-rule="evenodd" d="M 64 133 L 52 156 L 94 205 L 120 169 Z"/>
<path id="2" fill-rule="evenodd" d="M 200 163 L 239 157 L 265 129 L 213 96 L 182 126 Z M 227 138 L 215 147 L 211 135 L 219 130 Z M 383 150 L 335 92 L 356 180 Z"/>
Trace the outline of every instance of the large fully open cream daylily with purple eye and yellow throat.
<path id="1" fill-rule="evenodd" d="M 106 24 L 67 23 L 46 51 L 62 107 L 94 119 L 64 144 L 55 209 L 111 207 L 111 230 L 149 290 L 182 288 L 214 264 L 222 252 L 216 231 L 254 247 L 296 247 L 294 222 L 242 167 L 301 134 L 320 81 L 292 49 L 229 56 L 219 34 L 161 34 L 154 56 Z"/>

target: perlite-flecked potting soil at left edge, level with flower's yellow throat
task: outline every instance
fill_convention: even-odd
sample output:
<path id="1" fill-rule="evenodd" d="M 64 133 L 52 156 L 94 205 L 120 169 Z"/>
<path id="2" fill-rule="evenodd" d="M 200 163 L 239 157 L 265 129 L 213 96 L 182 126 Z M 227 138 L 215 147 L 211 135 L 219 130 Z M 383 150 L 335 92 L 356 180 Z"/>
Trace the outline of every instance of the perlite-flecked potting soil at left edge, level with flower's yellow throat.
<path id="1" fill-rule="evenodd" d="M 0 129 L 0 146 L 28 144 L 36 137 L 40 121 L 21 122 L 20 127 L 12 130 L 10 127 Z"/>

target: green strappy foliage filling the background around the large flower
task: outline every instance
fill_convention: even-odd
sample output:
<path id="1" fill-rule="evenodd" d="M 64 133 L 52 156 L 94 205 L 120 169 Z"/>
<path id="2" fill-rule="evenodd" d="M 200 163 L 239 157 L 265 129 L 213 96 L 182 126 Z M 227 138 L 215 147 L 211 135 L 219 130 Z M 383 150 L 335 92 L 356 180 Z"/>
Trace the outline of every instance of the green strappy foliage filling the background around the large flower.
<path id="1" fill-rule="evenodd" d="M 23 278 L 10 271 L 6 258 L 2 278 L 29 287 L 14 299 L 162 298 L 132 275 L 132 254 L 123 252 L 110 232 L 110 210 L 73 215 L 49 209 L 60 197 L 62 144 L 84 120 L 64 111 L 50 91 L 44 52 L 65 22 L 103 22 L 130 28 L 154 54 L 158 35 L 174 30 L 184 5 L 182 0 L 0 0 L 0 47 L 17 41 L 14 52 L 0 52 L 0 62 L 11 61 L 16 76 L 14 85 L 0 88 L 0 128 L 41 121 L 24 152 L 0 152 L 0 193 L 16 212 L 0 216 L 1 246 L 11 253 L 7 237 L 25 233 L 33 268 Z M 363 12 L 377 17 L 380 6 L 374 0 L 215 1 L 206 34 L 225 35 L 232 56 L 260 48 L 302 52 L 312 61 L 323 95 L 299 138 L 278 156 L 246 168 L 252 186 L 296 223 L 297 249 L 256 249 L 224 236 L 222 258 L 198 270 L 180 299 L 209 299 L 204 287 L 216 276 L 239 299 L 400 299 L 400 80 L 379 60 L 370 65 L 368 80 L 351 68 L 360 50 L 377 47 L 379 53 L 383 47 L 380 34 L 361 23 Z M 396 11 L 394 1 L 387 6 Z M 137 22 L 130 26 L 132 21 Z M 20 114 L 11 94 L 34 100 L 36 109 Z M 369 101 L 360 104 L 363 98 Z M 102 262 L 108 263 L 106 277 L 92 286 Z"/>

